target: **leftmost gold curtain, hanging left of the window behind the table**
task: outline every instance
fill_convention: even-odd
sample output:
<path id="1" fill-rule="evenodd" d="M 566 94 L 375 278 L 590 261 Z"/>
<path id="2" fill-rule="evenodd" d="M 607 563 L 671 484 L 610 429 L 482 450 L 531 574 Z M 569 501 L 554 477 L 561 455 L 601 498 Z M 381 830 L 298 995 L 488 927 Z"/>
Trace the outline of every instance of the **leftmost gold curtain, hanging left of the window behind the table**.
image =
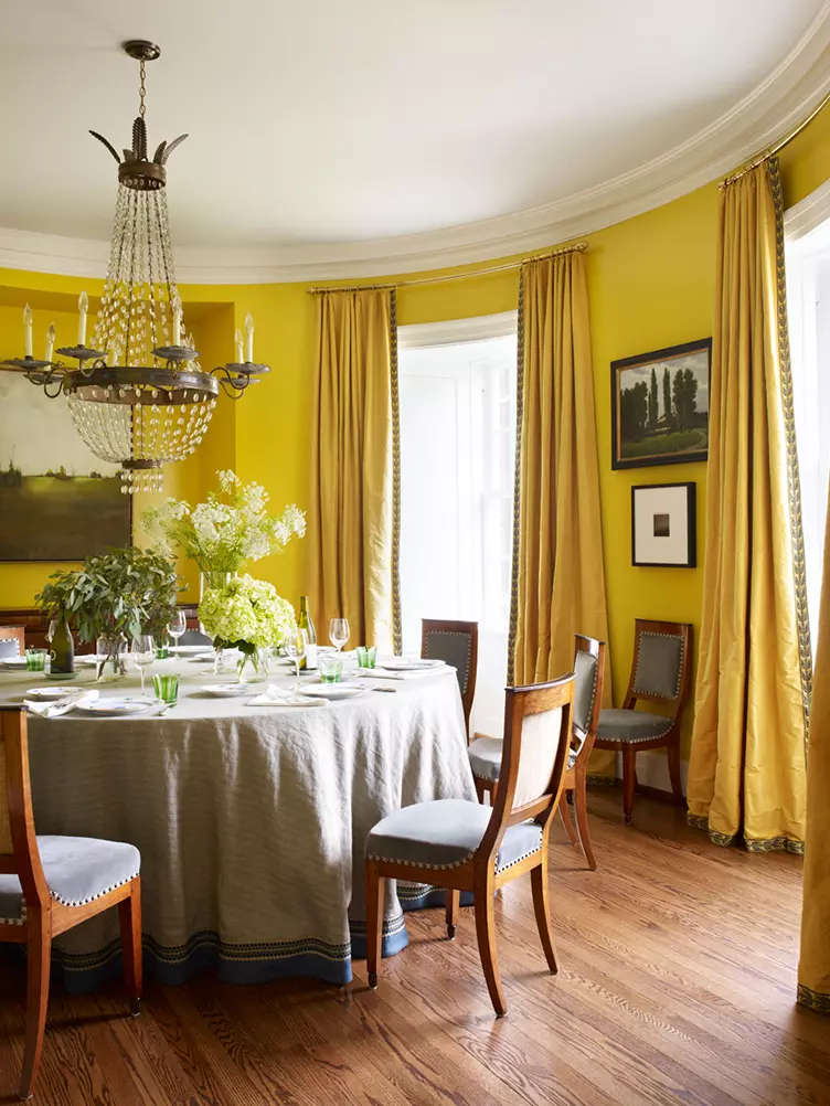
<path id="1" fill-rule="evenodd" d="M 321 640 L 400 651 L 400 438 L 393 289 L 318 300 L 309 594 Z"/>

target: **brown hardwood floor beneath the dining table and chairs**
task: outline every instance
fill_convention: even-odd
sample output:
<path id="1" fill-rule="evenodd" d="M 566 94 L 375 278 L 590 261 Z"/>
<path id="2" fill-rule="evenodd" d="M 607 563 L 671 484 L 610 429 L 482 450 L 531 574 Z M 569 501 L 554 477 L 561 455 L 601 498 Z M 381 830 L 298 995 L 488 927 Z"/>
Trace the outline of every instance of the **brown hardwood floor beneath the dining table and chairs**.
<path id="1" fill-rule="evenodd" d="M 203 975 L 145 991 L 53 989 L 43 1106 L 807 1106 L 830 1103 L 830 1019 L 795 1005 L 801 864 L 710 845 L 682 812 L 589 794 L 596 872 L 551 848 L 560 972 L 530 880 L 496 904 L 508 1015 L 497 1021 L 473 912 L 409 915 L 411 945 L 345 990 L 234 988 Z M 0 981 L 0 1102 L 14 1099 L 23 974 Z M 11 975 L 11 978 L 7 978 Z"/>

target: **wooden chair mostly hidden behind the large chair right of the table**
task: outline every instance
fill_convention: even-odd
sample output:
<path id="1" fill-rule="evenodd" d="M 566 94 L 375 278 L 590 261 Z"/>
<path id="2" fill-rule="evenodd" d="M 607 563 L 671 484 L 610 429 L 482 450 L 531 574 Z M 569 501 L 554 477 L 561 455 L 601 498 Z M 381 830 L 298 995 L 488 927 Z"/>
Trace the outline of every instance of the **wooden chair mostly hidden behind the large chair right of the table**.
<path id="1" fill-rule="evenodd" d="M 588 824 L 588 761 L 596 740 L 596 727 L 602 707 L 605 643 L 598 641 L 594 637 L 575 634 L 573 671 L 575 676 L 573 732 L 562 791 L 570 792 L 573 796 L 579 838 L 567 802 L 559 804 L 559 813 L 571 844 L 575 845 L 577 841 L 580 842 L 588 866 L 593 872 L 596 868 L 596 859 L 593 855 L 591 832 Z M 480 802 L 484 802 L 485 794 L 489 794 L 490 802 L 492 802 L 501 771 L 501 747 L 500 738 L 488 738 L 483 733 L 477 733 L 469 747 L 470 768 Z"/>

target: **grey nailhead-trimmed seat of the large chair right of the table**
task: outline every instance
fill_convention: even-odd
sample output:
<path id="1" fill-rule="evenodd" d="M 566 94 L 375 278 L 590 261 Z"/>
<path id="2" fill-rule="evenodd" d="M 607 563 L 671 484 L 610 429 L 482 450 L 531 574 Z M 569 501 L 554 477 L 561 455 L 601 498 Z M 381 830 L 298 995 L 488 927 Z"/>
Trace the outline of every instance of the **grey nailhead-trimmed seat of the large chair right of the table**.
<path id="1" fill-rule="evenodd" d="M 465 799 L 438 799 L 404 806 L 387 815 L 366 838 L 373 860 L 416 864 L 419 868 L 455 868 L 473 858 L 492 811 Z M 496 872 L 509 868 L 542 847 L 541 826 L 509 826 L 496 856 Z"/>

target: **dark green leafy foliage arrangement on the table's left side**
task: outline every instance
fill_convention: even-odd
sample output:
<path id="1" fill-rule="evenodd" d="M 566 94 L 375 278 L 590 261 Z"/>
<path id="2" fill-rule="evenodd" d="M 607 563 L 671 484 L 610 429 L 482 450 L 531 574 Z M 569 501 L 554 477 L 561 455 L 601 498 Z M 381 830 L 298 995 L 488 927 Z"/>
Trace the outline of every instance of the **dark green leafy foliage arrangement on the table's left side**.
<path id="1" fill-rule="evenodd" d="M 160 640 L 180 591 L 176 570 L 155 550 L 131 546 L 91 556 L 76 572 L 55 572 L 35 603 L 65 617 L 80 640 L 152 634 Z"/>

